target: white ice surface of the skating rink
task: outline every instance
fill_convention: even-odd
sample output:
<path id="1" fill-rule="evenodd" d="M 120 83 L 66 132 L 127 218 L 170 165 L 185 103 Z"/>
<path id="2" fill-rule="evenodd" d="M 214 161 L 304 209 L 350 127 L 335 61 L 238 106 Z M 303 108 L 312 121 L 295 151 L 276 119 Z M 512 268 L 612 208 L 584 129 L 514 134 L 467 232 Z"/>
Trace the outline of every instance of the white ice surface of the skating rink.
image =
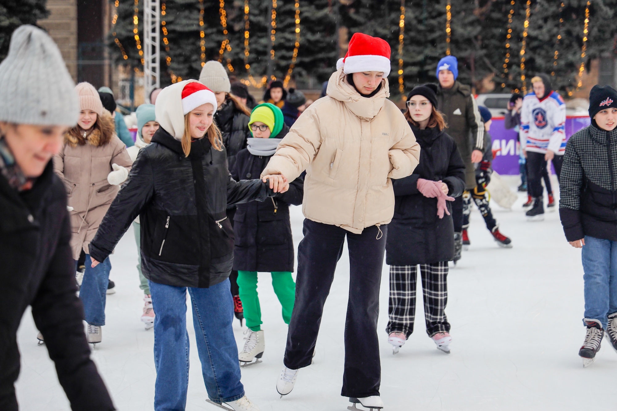
<path id="1" fill-rule="evenodd" d="M 512 186 L 518 178 L 510 179 Z M 554 187 L 557 186 L 555 181 Z M 469 251 L 450 270 L 446 313 L 452 324 L 452 354 L 436 349 L 428 338 L 421 304 L 415 332 L 397 355 L 387 334 L 388 267 L 381 281 L 379 342 L 381 396 L 384 411 L 400 410 L 583 410 L 615 409 L 617 353 L 607 340 L 596 362 L 582 367 L 578 349 L 584 338 L 584 302 L 580 251 L 566 243 L 558 212 L 544 222 L 527 222 L 519 194 L 513 210 L 492 203 L 503 234 L 513 248 L 497 246 L 474 208 Z M 294 243 L 302 239 L 302 212 L 291 207 Z M 143 293 L 138 288 L 136 247 L 130 229 L 112 255 L 110 278 L 117 293 L 107 296 L 103 341 L 93 351 L 118 410 L 152 410 L 154 399 L 154 334 L 139 321 Z M 349 259 L 343 254 L 325 306 L 315 361 L 300 370 L 296 388 L 281 399 L 275 381 L 283 366 L 287 326 L 273 292 L 269 273 L 259 274 L 263 363 L 242 369 L 247 396 L 266 410 L 343 411 L 340 396 L 344 359 L 344 322 L 349 289 Z M 419 299 L 421 297 L 418 297 Z M 194 345 L 191 311 L 191 370 L 186 410 L 212 410 Z M 238 347 L 243 331 L 234 320 Z M 23 411 L 70 409 L 54 365 L 26 312 L 19 330 L 22 372 L 17 396 Z"/>

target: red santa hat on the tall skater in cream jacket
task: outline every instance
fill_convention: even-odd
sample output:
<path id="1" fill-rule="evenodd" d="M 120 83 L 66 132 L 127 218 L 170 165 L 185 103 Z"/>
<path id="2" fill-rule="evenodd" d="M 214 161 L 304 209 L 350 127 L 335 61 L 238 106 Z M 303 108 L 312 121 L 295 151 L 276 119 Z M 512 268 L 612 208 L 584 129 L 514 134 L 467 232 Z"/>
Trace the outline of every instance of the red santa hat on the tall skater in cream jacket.
<path id="1" fill-rule="evenodd" d="M 358 72 L 390 73 L 390 44 L 378 37 L 355 33 L 349 41 L 349 49 L 336 68 L 343 68 L 345 74 Z"/>

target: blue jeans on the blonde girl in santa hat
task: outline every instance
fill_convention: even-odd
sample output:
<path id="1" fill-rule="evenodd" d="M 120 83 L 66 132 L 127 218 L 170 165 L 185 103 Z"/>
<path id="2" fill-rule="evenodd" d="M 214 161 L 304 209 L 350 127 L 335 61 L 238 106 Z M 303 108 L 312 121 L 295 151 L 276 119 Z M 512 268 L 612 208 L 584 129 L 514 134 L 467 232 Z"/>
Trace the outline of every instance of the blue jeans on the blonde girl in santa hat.
<path id="1" fill-rule="evenodd" d="M 178 411 L 186 406 L 189 384 L 189 340 L 186 331 L 186 290 L 149 281 L 154 307 L 155 411 Z M 244 396 L 240 382 L 238 346 L 233 335 L 230 281 L 210 288 L 188 287 L 193 326 L 205 389 L 213 402 Z"/>

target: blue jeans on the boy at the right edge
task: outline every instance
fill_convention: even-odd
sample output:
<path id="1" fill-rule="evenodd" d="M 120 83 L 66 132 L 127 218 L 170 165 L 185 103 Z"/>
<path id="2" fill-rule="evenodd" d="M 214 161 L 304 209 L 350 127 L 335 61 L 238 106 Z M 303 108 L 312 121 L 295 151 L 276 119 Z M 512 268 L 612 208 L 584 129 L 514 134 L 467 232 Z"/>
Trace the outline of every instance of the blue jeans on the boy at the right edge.
<path id="1" fill-rule="evenodd" d="M 617 241 L 585 236 L 582 268 L 585 319 L 597 320 L 606 330 L 608 315 L 617 312 Z"/>

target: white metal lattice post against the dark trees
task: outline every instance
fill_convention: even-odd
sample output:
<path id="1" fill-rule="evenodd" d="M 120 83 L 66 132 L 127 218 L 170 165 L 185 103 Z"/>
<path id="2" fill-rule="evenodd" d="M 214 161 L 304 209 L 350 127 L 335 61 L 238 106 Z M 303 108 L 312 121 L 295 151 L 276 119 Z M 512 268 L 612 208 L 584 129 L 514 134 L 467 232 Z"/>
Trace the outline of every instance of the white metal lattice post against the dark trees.
<path id="1" fill-rule="evenodd" d="M 160 87 L 160 0 L 144 0 L 144 100 Z"/>

